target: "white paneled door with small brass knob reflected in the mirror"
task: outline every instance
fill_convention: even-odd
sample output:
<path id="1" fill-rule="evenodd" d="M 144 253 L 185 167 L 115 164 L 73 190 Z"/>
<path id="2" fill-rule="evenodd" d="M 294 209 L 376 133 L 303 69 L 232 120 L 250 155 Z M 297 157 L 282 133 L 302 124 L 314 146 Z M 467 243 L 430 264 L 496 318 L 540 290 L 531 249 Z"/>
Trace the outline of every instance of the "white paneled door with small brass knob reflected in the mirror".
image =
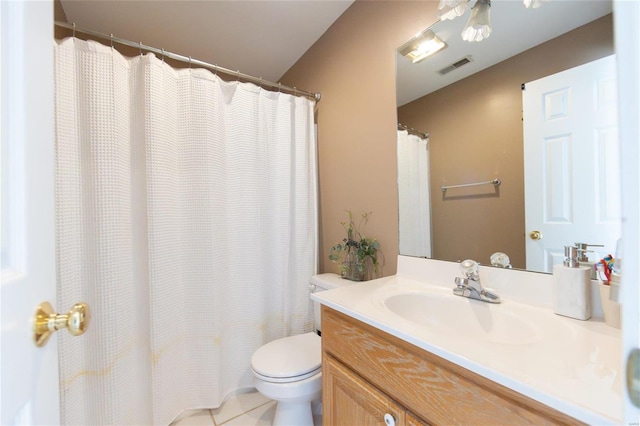
<path id="1" fill-rule="evenodd" d="M 522 92 L 527 269 L 551 272 L 564 246 L 615 255 L 620 161 L 615 55 L 526 83 Z"/>

